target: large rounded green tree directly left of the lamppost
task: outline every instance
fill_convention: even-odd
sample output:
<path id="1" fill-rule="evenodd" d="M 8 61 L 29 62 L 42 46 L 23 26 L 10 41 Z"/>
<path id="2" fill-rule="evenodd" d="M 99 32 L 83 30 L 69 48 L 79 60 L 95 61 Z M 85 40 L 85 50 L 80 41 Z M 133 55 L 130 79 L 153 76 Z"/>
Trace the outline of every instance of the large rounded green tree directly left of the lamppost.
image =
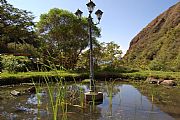
<path id="1" fill-rule="evenodd" d="M 80 53 L 88 46 L 87 19 L 79 20 L 69 11 L 54 8 L 41 15 L 37 29 L 45 60 L 67 69 L 74 68 Z M 93 39 L 99 36 L 100 30 L 94 25 Z"/>

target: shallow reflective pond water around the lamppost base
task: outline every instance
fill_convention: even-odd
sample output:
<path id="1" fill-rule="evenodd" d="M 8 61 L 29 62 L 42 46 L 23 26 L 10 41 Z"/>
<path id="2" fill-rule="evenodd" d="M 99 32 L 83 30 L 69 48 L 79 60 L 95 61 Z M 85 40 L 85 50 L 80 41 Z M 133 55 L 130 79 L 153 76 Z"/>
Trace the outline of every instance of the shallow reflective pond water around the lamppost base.
<path id="1" fill-rule="evenodd" d="M 58 90 L 63 98 L 58 98 L 57 119 L 68 120 L 174 120 L 180 119 L 180 103 L 157 102 L 156 95 L 145 95 L 132 84 L 121 82 L 97 83 L 96 89 L 103 92 L 101 103 L 84 102 L 83 93 L 89 90 L 88 84 L 72 83 L 65 87 L 59 85 L 41 85 L 37 94 L 11 96 L 12 90 L 23 92 L 29 86 L 0 87 L 0 120 L 51 120 L 54 112 L 49 90 L 53 93 L 54 105 L 58 98 Z M 50 88 L 50 89 L 48 89 Z M 167 89 L 167 88 L 166 88 Z M 177 91 L 177 90 L 176 90 Z M 179 92 L 179 91 L 178 91 Z M 143 93 L 143 94 L 142 94 Z M 152 93 L 152 92 L 151 92 Z M 158 98 L 159 99 L 159 98 Z M 163 99 L 163 98 L 162 98 Z M 169 100 L 169 99 L 168 99 Z M 165 101 L 165 100 L 164 100 Z M 172 103 L 176 101 L 176 103 Z M 172 103 L 172 104 L 171 104 Z"/>

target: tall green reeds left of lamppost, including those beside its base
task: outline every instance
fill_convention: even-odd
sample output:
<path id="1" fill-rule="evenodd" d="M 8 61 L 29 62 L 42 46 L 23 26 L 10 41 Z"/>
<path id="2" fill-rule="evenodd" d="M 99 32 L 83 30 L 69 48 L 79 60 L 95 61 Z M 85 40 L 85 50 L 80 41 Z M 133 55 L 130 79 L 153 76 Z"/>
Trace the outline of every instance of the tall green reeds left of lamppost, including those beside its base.
<path id="1" fill-rule="evenodd" d="M 40 72 L 46 72 L 47 67 L 50 69 L 51 76 L 49 77 L 48 74 L 43 75 L 43 79 L 45 82 L 45 86 L 47 87 L 47 94 L 48 94 L 48 99 L 49 99 L 49 105 L 47 106 L 47 110 L 50 111 L 51 116 L 53 120 L 57 120 L 60 118 L 61 120 L 67 120 L 67 113 L 68 113 L 68 106 L 73 106 L 73 107 L 79 107 L 84 108 L 84 91 L 82 87 L 79 87 L 77 91 L 68 91 L 68 87 L 65 81 L 65 78 L 62 77 L 66 72 L 61 70 L 57 70 L 56 66 L 54 64 L 51 64 L 49 61 L 50 66 L 43 65 L 45 67 L 39 68 Z M 72 75 L 72 74 L 71 74 Z M 51 83 L 55 82 L 55 85 L 52 85 Z M 77 83 L 74 79 L 74 83 L 76 86 Z M 38 86 L 39 84 L 36 85 L 36 89 L 41 88 L 41 86 Z M 80 84 L 82 86 L 82 84 Z M 77 94 L 79 96 L 77 96 Z M 72 99 L 67 98 L 68 96 L 71 96 Z M 40 98 L 39 98 L 40 99 Z M 78 99 L 78 100 L 77 100 Z M 79 101 L 79 105 L 74 105 L 74 101 Z M 83 112 L 83 111 L 82 111 Z M 50 117 L 51 117 L 50 116 Z"/>

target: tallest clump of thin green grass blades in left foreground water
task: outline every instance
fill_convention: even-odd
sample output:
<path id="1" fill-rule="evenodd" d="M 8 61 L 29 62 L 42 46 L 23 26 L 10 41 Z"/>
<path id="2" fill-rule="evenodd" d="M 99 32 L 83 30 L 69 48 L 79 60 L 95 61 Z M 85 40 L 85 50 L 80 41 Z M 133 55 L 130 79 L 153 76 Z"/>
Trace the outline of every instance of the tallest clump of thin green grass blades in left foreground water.
<path id="1" fill-rule="evenodd" d="M 62 120 L 67 119 L 67 102 L 66 102 L 66 94 L 67 94 L 67 87 L 65 82 L 63 82 L 63 77 L 60 77 L 61 74 L 57 70 L 56 66 L 54 64 L 51 64 L 50 61 L 48 61 L 51 66 L 47 66 L 44 64 L 42 68 L 38 68 L 40 72 L 47 71 L 47 68 L 52 70 L 51 76 L 54 76 L 53 78 L 50 78 L 48 74 L 44 74 L 43 78 L 45 81 L 45 85 L 47 87 L 47 93 L 49 96 L 49 102 L 50 106 L 47 106 L 48 110 L 52 111 L 52 118 L 53 120 L 57 120 L 58 117 L 61 117 Z M 38 67 L 38 66 L 37 66 Z M 52 86 L 52 82 L 55 81 L 55 86 Z M 35 85 L 36 90 L 42 89 L 42 86 L 40 84 Z M 38 101 L 40 101 L 40 98 L 38 98 Z M 58 116 L 58 113 L 61 113 L 61 116 Z"/>

